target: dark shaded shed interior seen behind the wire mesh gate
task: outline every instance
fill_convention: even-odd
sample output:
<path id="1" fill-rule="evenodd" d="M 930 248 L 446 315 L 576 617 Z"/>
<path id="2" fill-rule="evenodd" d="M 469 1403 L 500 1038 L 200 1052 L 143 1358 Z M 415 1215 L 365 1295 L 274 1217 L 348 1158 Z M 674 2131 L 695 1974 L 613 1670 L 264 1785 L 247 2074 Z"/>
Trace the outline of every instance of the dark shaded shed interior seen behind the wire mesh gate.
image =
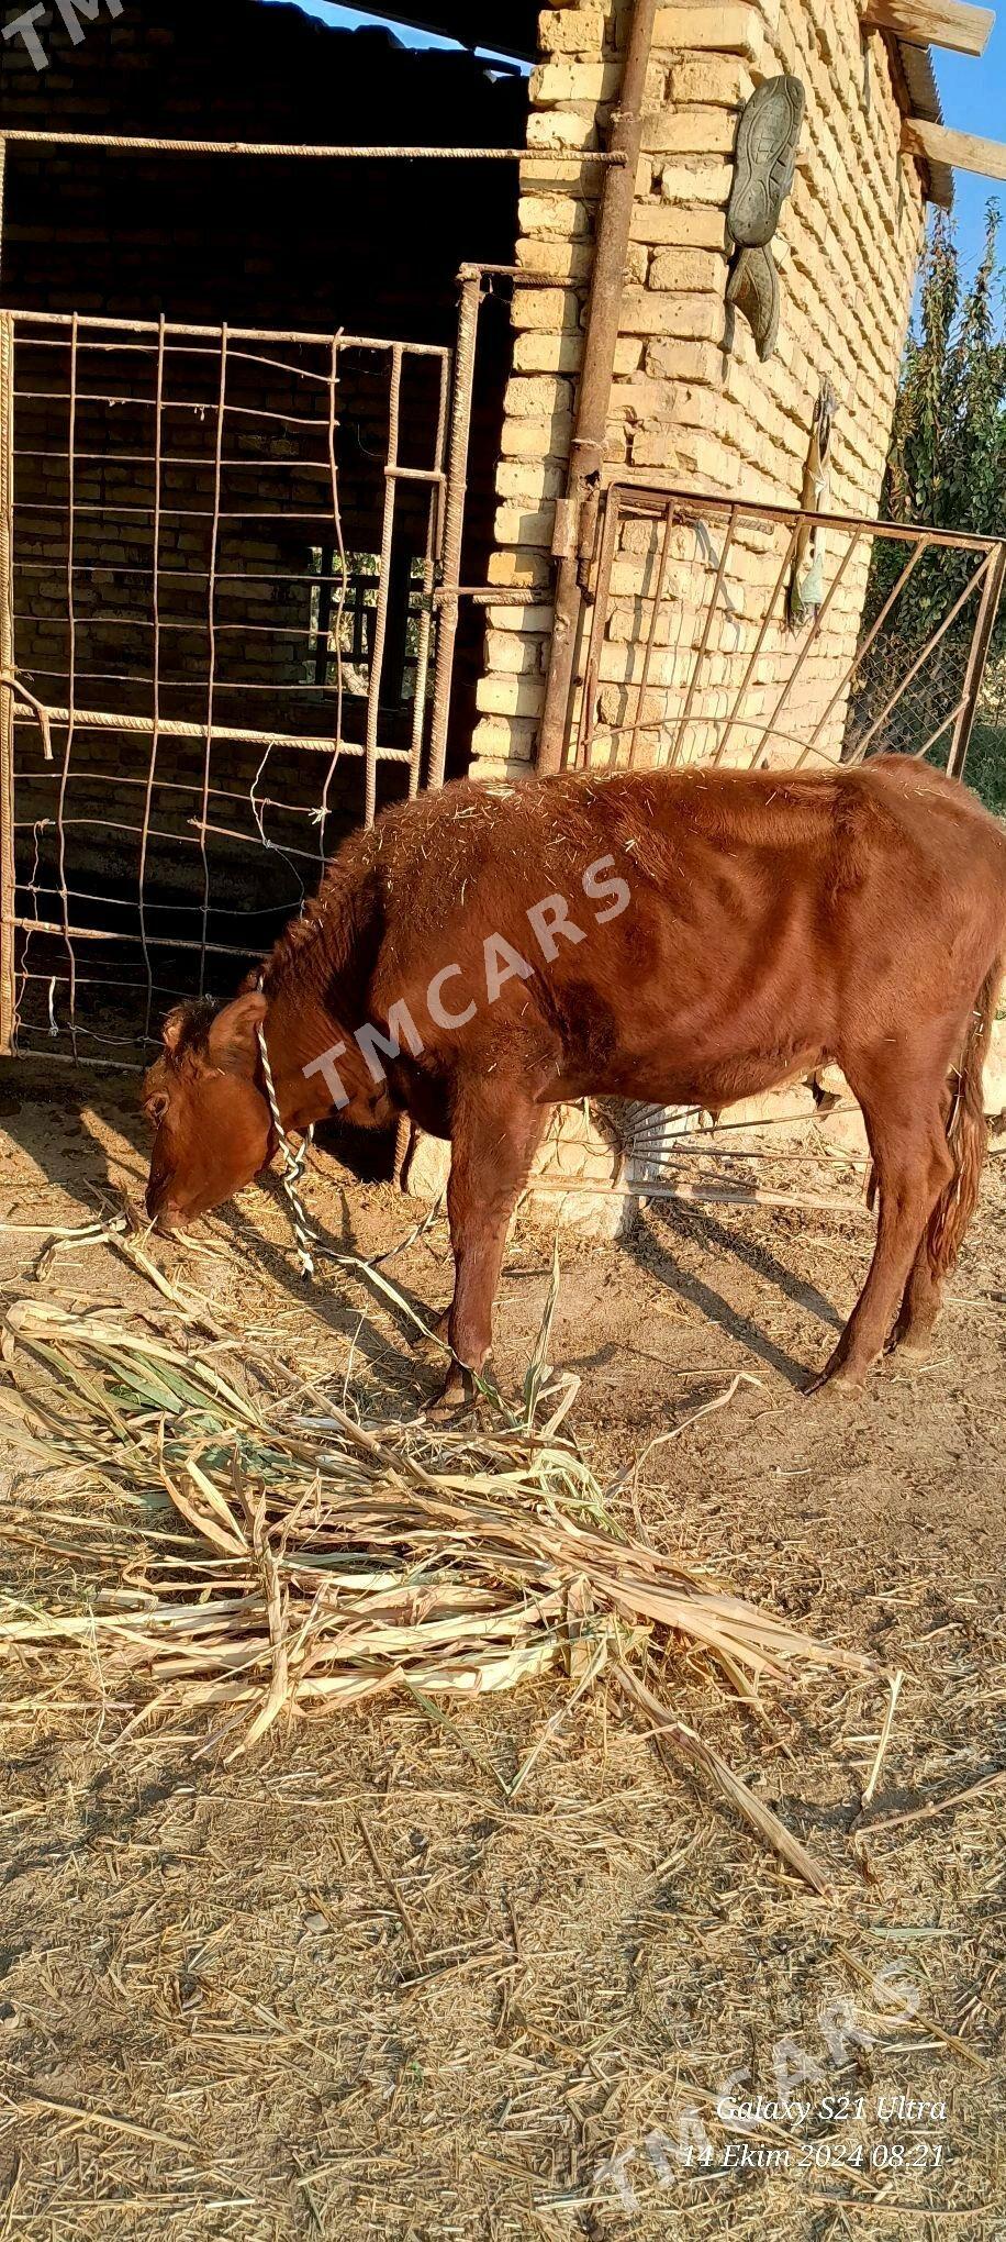
<path id="1" fill-rule="evenodd" d="M 7 11 L 9 13 L 9 11 Z M 105 9 L 72 45 L 58 16 L 45 34 L 49 70 L 20 40 L 0 43 L 0 119 L 9 128 L 206 137 L 237 141 L 347 141 L 520 146 L 527 81 L 486 72 L 468 54 L 412 52 L 383 31 L 336 31 L 296 7 L 258 0 L 130 0 Z M 0 303 L 134 321 L 323 336 L 390 336 L 450 348 L 457 267 L 513 258 L 511 164 L 233 161 L 11 148 Z M 87 327 L 81 327 L 87 336 Z M 94 341 L 94 334 L 92 334 Z M 155 352 L 81 348 L 76 410 L 76 702 L 152 713 Z M 226 469 L 217 540 L 217 724 L 334 735 L 334 691 L 311 679 L 314 552 L 334 538 L 327 354 L 300 345 L 231 348 Z M 484 581 L 493 531 L 493 473 L 511 334 L 486 307 L 473 417 L 466 581 Z M 276 363 L 269 363 L 276 361 Z M 432 464 L 432 361 L 406 361 L 401 460 Z M 206 720 L 208 563 L 213 545 L 215 399 L 220 359 L 168 354 L 161 473 L 159 621 L 161 715 Z M 27 325 L 16 404 L 16 655 L 54 706 L 67 702 L 67 330 Z M 134 399 L 125 404 L 125 399 Z M 388 448 L 388 354 L 343 348 L 338 361 L 338 493 L 347 554 L 381 547 Z M 237 522 L 244 511 L 253 520 Z M 392 578 L 423 549 L 423 493 L 401 482 Z M 184 574 L 188 572 L 188 576 Z M 246 583 L 237 574 L 246 574 Z M 392 596 L 394 608 L 394 596 Z M 394 634 L 394 614 L 392 614 Z M 450 762 L 466 767 L 482 612 L 459 634 Z M 385 677 L 394 673 L 388 661 Z M 345 738 L 361 740 L 365 670 L 345 695 Z M 408 747 L 412 708 L 394 691 L 381 711 L 383 744 Z M 56 807 L 65 733 L 43 765 L 38 733 L 18 724 L 20 908 L 58 919 Z M 76 729 L 65 789 L 67 883 L 76 924 L 137 926 L 139 841 L 150 735 Z M 269 796 L 258 843 L 249 791 L 260 747 L 215 742 L 208 836 L 211 939 L 258 953 L 316 883 L 323 845 L 363 814 L 363 765 L 347 760 L 327 791 L 320 830 L 298 809 L 318 803 L 327 756 L 278 744 L 258 782 Z M 318 769 L 320 767 L 320 769 Z M 155 930 L 197 935 L 204 859 L 202 742 L 159 740 L 150 800 L 155 839 L 143 863 Z M 401 767 L 381 767 L 381 794 L 401 791 Z M 157 839 L 161 836 L 161 839 Z M 285 854 L 302 850 L 305 856 Z M 193 917 L 195 906 L 195 917 Z M 94 948 L 92 971 L 112 955 Z M 65 948 L 31 937 L 31 962 L 65 975 Z M 170 957 L 186 984 L 190 955 Z M 226 986 L 237 960 L 215 969 Z M 43 1007 L 47 991 L 43 989 Z M 45 1018 L 45 1011 L 43 1011 Z M 45 1029 L 43 1029 L 45 1031 Z"/>

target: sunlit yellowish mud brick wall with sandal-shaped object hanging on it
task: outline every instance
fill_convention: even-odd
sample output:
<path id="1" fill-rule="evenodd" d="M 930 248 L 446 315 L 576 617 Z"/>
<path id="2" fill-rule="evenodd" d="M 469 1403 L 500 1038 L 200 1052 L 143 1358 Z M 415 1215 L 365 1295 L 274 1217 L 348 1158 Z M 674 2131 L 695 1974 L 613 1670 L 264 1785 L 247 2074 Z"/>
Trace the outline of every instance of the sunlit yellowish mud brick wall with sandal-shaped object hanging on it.
<path id="1" fill-rule="evenodd" d="M 529 146 L 569 148 L 571 164 L 562 179 L 549 182 L 535 173 L 533 155 L 522 166 L 518 262 L 553 287 L 515 294 L 515 363 L 488 574 L 502 585 L 527 585 L 527 605 L 488 612 L 475 731 L 486 773 L 518 771 L 535 753 L 549 661 L 553 500 L 565 482 L 592 258 L 594 204 L 585 188 L 594 179 L 576 164 L 576 150 L 596 146 L 605 130 L 625 25 L 627 7 L 618 0 L 560 4 L 540 20 Z M 807 119 L 793 193 L 773 244 L 780 341 L 762 365 L 742 316 L 733 354 L 724 352 L 724 213 L 739 108 L 780 70 L 802 78 Z M 661 7 L 648 99 L 609 413 L 612 473 L 627 466 L 686 489 L 795 502 L 827 377 L 838 397 L 829 507 L 874 513 L 923 233 L 921 179 L 916 166 L 898 157 L 901 110 L 883 38 L 874 36 L 865 54 L 856 0 Z M 683 536 L 674 549 L 668 612 L 656 626 L 654 695 L 641 711 L 652 726 L 645 760 L 663 760 L 674 740 L 717 545 L 719 531 L 712 552 Z M 838 560 L 840 552 L 831 549 L 827 583 Z M 730 704 L 777 569 L 780 536 L 739 529 L 724 578 L 728 596 L 712 617 L 701 686 L 690 704 L 686 753 L 715 744 L 715 724 Z M 863 540 L 793 686 L 786 729 L 798 742 L 813 733 L 854 655 L 867 569 L 869 543 Z M 600 762 L 623 751 L 636 715 L 632 682 L 650 628 L 654 574 L 656 534 L 652 525 L 632 522 L 616 554 L 607 643 L 589 711 Z M 760 742 L 757 726 L 800 657 L 802 639 L 786 630 L 782 603 L 777 614 L 744 706 L 748 722 L 730 738 L 730 760 L 748 760 Z M 845 697 L 838 697 L 820 751 L 838 753 L 842 722 Z"/>

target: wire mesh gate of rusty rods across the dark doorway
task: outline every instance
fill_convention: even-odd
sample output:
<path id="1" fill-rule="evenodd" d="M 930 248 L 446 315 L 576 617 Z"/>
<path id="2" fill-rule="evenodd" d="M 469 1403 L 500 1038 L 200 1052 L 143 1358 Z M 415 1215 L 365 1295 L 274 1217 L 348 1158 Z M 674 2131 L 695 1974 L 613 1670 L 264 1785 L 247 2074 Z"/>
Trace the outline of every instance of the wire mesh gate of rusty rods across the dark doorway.
<path id="1" fill-rule="evenodd" d="M 450 352 L 0 330 L 27 688 L 0 693 L 7 1047 L 141 1063 L 166 1004 L 231 989 L 343 832 L 421 782 Z"/>

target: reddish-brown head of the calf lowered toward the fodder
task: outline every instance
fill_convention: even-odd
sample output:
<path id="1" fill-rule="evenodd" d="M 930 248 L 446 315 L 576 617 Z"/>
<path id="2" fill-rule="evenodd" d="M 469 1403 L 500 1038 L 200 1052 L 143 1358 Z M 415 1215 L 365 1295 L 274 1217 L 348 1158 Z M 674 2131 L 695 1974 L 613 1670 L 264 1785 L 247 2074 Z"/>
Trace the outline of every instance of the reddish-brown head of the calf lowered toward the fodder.
<path id="1" fill-rule="evenodd" d="M 217 1013 L 181 1004 L 164 1022 L 164 1054 L 143 1078 L 143 1112 L 155 1125 L 146 1211 L 159 1231 L 222 1206 L 276 1146 L 255 1087 L 267 1011 L 267 998 L 251 989 Z"/>

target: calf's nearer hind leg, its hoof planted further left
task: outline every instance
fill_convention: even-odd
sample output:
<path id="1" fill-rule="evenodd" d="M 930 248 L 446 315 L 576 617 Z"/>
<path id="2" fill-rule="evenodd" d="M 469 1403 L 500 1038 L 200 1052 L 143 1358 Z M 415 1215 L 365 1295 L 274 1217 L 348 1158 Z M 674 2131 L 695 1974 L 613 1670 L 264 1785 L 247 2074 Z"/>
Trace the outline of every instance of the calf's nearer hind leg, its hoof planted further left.
<path id="1" fill-rule="evenodd" d="M 887 1056 L 883 1069 L 860 1067 L 854 1076 L 847 1067 L 847 1074 L 863 1105 L 874 1155 L 876 1247 L 867 1282 L 813 1388 L 827 1381 L 858 1386 L 883 1354 L 910 1276 L 925 1253 L 930 1215 L 954 1173 L 941 1108 L 943 1072 L 937 1081 L 932 1069 L 921 1076 L 905 1074 L 901 1054 L 901 1060 Z"/>

